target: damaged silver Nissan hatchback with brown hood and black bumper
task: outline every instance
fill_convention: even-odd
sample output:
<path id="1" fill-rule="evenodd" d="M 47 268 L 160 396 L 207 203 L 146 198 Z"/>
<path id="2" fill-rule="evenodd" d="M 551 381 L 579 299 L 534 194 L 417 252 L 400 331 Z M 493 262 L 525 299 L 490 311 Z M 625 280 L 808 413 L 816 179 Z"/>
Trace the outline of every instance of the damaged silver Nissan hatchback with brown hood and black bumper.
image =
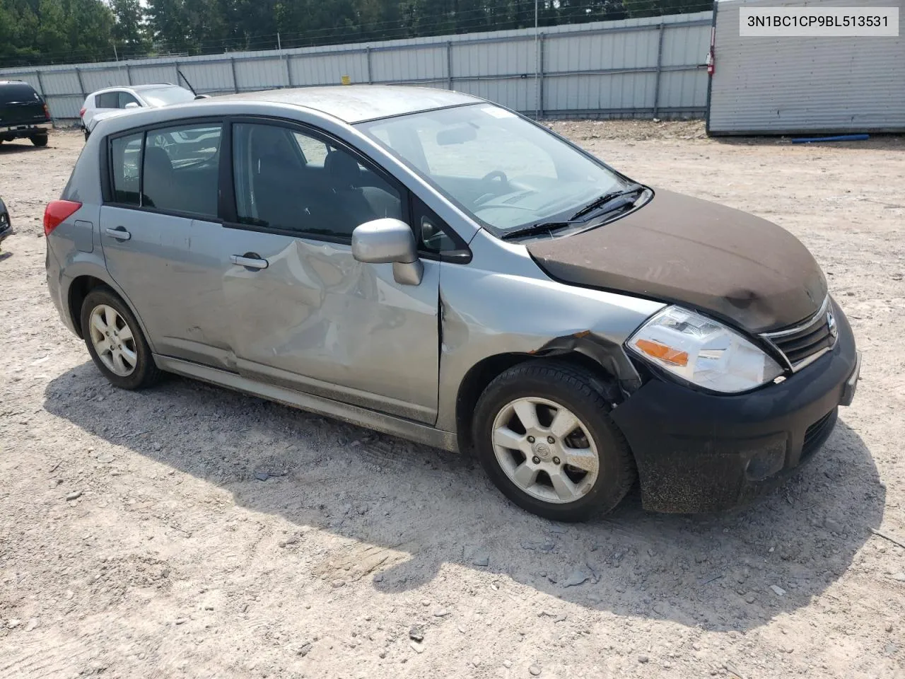
<path id="1" fill-rule="evenodd" d="M 860 358 L 767 221 L 485 100 L 265 91 L 100 122 L 47 282 L 117 387 L 172 372 L 447 450 L 562 521 L 705 512 L 833 431 Z"/>

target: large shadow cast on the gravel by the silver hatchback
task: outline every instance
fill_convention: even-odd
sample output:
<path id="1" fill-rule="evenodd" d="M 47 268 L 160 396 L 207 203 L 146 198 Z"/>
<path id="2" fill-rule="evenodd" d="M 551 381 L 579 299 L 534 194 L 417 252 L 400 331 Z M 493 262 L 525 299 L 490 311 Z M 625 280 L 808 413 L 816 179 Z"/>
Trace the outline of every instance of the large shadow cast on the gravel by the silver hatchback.
<path id="1" fill-rule="evenodd" d="M 514 507 L 466 456 L 188 379 L 119 391 L 86 362 L 52 379 L 44 407 L 123 446 L 119 464 L 144 455 L 289 521 L 291 531 L 262 537 L 265 549 L 308 556 L 310 527 L 353 540 L 315 557 L 317 577 L 394 593 L 459 564 L 496 576 L 495 587 L 511 579 L 549 595 L 537 615 L 554 619 L 565 601 L 709 630 L 763 625 L 840 578 L 880 526 L 885 500 L 870 452 L 843 419 L 812 464 L 746 509 L 658 515 L 634 493 L 606 517 L 568 525 Z M 99 488 L 109 483 L 102 464 L 96 473 Z M 173 476 L 154 483 L 179 492 Z M 462 578 L 462 588 L 475 585 Z"/>

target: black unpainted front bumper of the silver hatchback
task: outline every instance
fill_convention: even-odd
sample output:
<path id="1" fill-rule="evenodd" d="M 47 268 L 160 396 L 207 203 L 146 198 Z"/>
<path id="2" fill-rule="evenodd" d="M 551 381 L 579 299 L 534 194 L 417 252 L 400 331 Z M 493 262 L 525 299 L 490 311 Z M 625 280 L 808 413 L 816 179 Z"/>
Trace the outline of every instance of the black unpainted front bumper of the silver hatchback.
<path id="1" fill-rule="evenodd" d="M 654 512 L 716 512 L 783 483 L 852 402 L 860 355 L 843 312 L 832 351 L 780 384 L 715 396 L 652 378 L 612 412 Z"/>

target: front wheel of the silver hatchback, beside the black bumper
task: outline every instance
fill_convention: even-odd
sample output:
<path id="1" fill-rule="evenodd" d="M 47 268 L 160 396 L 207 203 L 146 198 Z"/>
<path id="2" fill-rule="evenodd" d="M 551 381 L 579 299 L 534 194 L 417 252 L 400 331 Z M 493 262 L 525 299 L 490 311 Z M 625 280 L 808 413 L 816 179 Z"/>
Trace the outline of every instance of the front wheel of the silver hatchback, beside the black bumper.
<path id="1" fill-rule="evenodd" d="M 584 369 L 554 360 L 521 363 L 484 389 L 472 440 L 491 481 L 519 507 L 554 521 L 586 521 L 613 510 L 636 478 L 610 405 L 605 386 Z M 533 427 L 519 415 L 529 414 L 529 406 Z M 568 415 L 576 426 L 570 428 Z M 566 464 L 567 455 L 576 465 Z"/>

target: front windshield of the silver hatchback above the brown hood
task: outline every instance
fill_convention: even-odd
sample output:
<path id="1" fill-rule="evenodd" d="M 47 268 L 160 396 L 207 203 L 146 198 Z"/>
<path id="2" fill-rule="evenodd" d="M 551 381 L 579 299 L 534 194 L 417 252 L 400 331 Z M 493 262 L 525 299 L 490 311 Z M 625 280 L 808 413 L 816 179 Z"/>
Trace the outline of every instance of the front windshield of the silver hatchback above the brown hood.
<path id="1" fill-rule="evenodd" d="M 529 120 L 492 104 L 428 110 L 357 126 L 492 234 L 565 220 L 622 177 Z"/>

